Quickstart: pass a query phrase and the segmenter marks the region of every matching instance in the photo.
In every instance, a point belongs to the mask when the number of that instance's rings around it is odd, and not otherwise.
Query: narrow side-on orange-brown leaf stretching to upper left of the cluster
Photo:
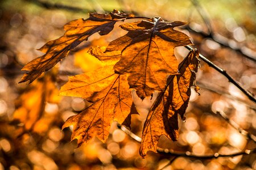
[[[90,17],[86,20],[77,19],[64,25],[66,31],[64,36],[59,39],[47,42],[39,50],[46,53],[41,57],[33,59],[27,63],[22,70],[29,71],[24,74],[22,80],[19,83],[30,81],[32,83],[43,72],[51,69],[61,59],[67,56],[69,51],[79,45],[82,41],[88,40],[88,38],[94,33],[107,35],[114,28],[114,24],[118,21],[122,21],[133,15],[127,15],[125,13],[114,10],[110,14],[90,14]]]

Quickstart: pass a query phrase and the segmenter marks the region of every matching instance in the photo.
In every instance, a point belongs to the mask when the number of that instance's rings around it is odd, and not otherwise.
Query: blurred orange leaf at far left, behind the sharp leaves
[[[27,88],[17,100],[18,108],[14,112],[13,122],[22,123],[24,132],[43,133],[54,120],[52,114],[46,112],[46,104],[59,103],[59,91],[51,75],[44,76]]]

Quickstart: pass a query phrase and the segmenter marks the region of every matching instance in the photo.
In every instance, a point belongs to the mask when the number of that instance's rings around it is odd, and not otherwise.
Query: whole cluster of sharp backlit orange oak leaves
[[[129,22],[137,18],[137,22]],[[130,126],[135,110],[131,89],[143,100],[157,91],[158,97],[148,112],[143,128],[141,156],[155,151],[161,135],[176,141],[178,114],[184,120],[191,88],[195,85],[199,52],[192,50],[179,64],[174,55],[176,46],[192,44],[189,37],[174,28],[183,22],[166,22],[160,17],[139,18],[114,10],[110,14],[90,14],[88,19],[73,20],[64,25],[65,33],[59,39],[47,42],[41,50],[46,53],[27,63],[20,82],[35,79],[51,69],[70,50],[87,41],[95,33],[107,35],[115,23],[126,35],[106,47],[92,47],[89,53],[104,62],[100,69],[70,76],[60,89],[60,95],[82,97],[90,105],[81,113],[69,117],[63,128],[73,126],[72,140],[78,146],[93,137],[105,142],[113,121]]]

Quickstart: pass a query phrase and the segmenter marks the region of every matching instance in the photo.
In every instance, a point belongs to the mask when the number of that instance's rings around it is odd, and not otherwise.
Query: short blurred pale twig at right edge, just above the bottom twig
[[[226,122],[228,122],[229,125],[231,125],[234,129],[236,129],[237,131],[239,131],[242,135],[245,135],[248,139],[250,139],[250,140],[256,142],[256,136],[255,136],[255,135],[253,135],[253,134],[249,133],[248,131],[243,130],[242,128],[240,128],[240,126],[237,125],[237,123],[234,122],[233,120],[230,120],[230,119],[228,118],[228,116],[227,116],[224,112],[222,112],[222,111],[221,111],[221,112],[220,112],[220,111],[217,111],[216,113],[217,113],[218,115],[220,115],[222,118],[224,118],[224,120],[225,120]]]

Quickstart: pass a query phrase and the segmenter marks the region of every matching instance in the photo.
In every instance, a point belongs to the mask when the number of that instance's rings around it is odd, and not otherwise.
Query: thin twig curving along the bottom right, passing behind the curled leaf
[[[131,138],[133,138],[135,141],[141,143],[142,139],[132,133],[130,130],[125,128],[125,126],[121,124],[117,124],[117,127],[124,131],[127,135],[129,135]],[[168,148],[160,148],[158,147],[156,150],[159,154],[163,155],[171,155],[171,156],[183,156],[187,158],[195,158],[195,159],[213,159],[213,158],[221,158],[221,157],[233,157],[233,156],[238,156],[238,155],[249,155],[249,154],[255,154],[256,153],[256,148],[253,148],[251,150],[245,150],[241,152],[236,152],[234,154],[218,154],[217,152],[213,155],[193,155],[191,152],[176,152],[173,150],[169,150]]]

